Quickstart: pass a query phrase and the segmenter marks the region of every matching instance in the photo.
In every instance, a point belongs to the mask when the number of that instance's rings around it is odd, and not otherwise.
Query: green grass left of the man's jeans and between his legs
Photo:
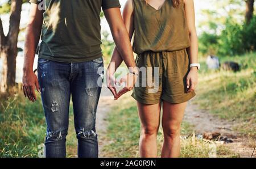
[[[22,94],[0,100],[0,157],[40,157],[46,136],[40,96],[35,103],[28,102]],[[67,136],[67,157],[76,157],[76,135],[72,106]]]

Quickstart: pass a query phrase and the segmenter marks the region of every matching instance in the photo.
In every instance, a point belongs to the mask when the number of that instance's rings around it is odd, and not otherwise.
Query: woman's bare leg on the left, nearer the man
[[[160,125],[161,104],[142,104],[137,102],[141,119],[139,154],[141,157],[157,157],[156,136]]]

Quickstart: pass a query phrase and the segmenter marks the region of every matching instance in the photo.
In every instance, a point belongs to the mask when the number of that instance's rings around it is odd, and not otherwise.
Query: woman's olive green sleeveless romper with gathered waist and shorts
[[[133,9],[133,50],[140,68],[133,98],[144,104],[187,102],[195,92],[187,93],[190,40],[184,3],[175,8],[166,0],[156,10],[144,0],[133,0]]]

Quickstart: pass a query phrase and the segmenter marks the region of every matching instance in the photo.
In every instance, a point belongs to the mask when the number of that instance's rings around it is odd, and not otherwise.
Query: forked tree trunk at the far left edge
[[[23,1],[11,0],[10,3],[10,26],[5,36],[2,20],[0,18],[0,58],[2,58],[2,79],[0,92],[13,92],[15,86],[16,56],[18,53],[17,43],[19,35],[20,13]]]

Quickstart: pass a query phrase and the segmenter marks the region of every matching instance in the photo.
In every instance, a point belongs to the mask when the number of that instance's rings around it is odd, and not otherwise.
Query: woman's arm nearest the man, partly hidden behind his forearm
[[[131,40],[134,33],[134,16],[132,0],[128,0],[125,4],[125,7],[123,9],[123,22],[125,23],[125,27],[129,33],[129,37]],[[107,84],[110,91],[112,91],[112,93],[114,94],[114,96],[117,93],[115,91],[114,84],[111,84],[111,78],[113,78],[113,74],[115,73],[117,68],[122,64],[122,61],[123,59],[121,57],[121,54],[119,53],[117,47],[115,47],[107,70]]]

